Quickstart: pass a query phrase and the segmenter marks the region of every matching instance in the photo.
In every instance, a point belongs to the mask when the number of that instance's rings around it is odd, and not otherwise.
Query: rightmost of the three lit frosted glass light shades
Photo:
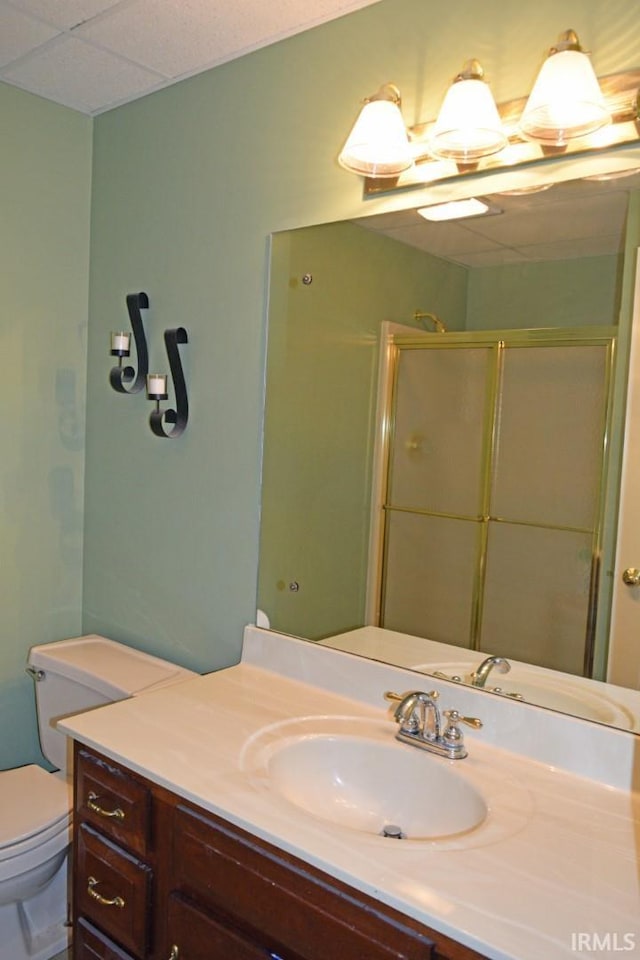
[[[528,140],[564,146],[611,122],[598,78],[586,53],[560,50],[542,65],[520,119]]]

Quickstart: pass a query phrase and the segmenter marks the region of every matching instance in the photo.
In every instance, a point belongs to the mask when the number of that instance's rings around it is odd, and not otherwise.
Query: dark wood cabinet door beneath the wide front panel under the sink
[[[185,960],[272,960],[266,947],[245,939],[175,894],[169,898],[168,932],[177,956]]]

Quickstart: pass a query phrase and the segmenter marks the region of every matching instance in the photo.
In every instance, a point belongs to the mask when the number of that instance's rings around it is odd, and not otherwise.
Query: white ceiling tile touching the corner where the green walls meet
[[[39,56],[8,67],[2,77],[31,93],[88,113],[141,96],[162,82],[157,74],[69,36],[54,41]]]

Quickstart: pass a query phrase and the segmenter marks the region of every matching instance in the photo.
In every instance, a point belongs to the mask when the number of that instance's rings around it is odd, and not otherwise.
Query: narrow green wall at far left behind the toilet
[[[82,612],[92,123],[0,85],[0,767],[37,759],[29,647]]]

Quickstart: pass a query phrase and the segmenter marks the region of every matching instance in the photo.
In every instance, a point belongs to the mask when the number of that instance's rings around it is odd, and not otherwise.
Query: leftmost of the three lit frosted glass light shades
[[[398,104],[393,100],[366,103],[338,162],[365,177],[397,177],[412,167],[409,137]]]

